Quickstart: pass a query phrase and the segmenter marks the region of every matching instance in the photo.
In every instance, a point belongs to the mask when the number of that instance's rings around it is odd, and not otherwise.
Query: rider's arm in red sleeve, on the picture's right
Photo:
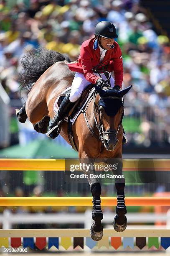
[[[123,82],[123,60],[122,60],[122,51],[120,46],[117,44],[114,47],[114,56],[111,63],[109,64],[108,71],[114,72],[114,84],[119,85],[122,88]]]

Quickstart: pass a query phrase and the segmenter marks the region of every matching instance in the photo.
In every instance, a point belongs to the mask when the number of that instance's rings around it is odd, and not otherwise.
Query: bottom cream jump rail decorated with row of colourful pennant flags
[[[53,250],[107,248],[109,250],[147,249],[155,246],[166,250],[170,246],[170,229],[126,229],[117,233],[114,229],[104,229],[101,241],[93,241],[89,229],[7,229],[0,230],[0,246],[6,248],[44,248]]]

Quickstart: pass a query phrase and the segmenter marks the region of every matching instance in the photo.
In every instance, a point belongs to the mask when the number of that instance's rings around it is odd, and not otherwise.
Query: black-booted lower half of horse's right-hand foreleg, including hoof
[[[117,207],[116,207],[116,216],[114,217],[113,227],[117,232],[123,232],[127,227],[127,214],[126,205],[124,202],[124,183],[117,183],[115,179],[115,187],[117,189]]]

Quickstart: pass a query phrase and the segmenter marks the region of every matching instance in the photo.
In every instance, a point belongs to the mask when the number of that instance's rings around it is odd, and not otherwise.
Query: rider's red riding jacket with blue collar
[[[103,61],[100,61],[100,49],[96,38],[86,40],[81,45],[79,59],[68,63],[67,65],[71,71],[84,74],[87,81],[91,82],[92,84],[96,84],[99,76],[94,75],[92,69],[100,63],[101,66],[98,68],[101,69],[102,66],[107,66],[108,72],[114,72],[115,85],[122,87],[122,52],[119,45],[115,41],[111,46],[111,49],[107,50]]]

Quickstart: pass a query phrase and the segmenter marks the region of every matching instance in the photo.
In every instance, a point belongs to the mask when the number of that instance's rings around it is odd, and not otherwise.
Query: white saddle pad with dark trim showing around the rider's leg
[[[63,90],[63,92],[61,92],[60,94],[66,95],[66,93],[69,92],[69,90],[71,90],[71,86],[68,87],[68,88],[66,88],[65,90]],[[94,91],[95,91],[95,88],[93,87],[93,88],[91,89],[91,91],[89,92],[89,96],[87,97],[87,99],[86,99],[86,101],[84,102],[84,104],[83,104],[83,106],[81,107],[81,109],[84,109],[84,108],[85,108],[86,103],[88,102],[89,98],[93,95]],[[57,113],[57,112],[58,112],[58,109],[59,109],[59,105],[60,105],[60,104],[58,104],[58,101],[59,101],[60,97],[63,97],[63,96],[58,96],[58,97],[56,98],[55,102],[54,102],[54,105],[53,105],[53,110],[54,110],[55,113]],[[74,122],[76,121],[76,119],[78,118],[78,116],[79,116],[80,113],[81,113],[81,110],[77,109],[77,111],[76,111],[76,113],[74,114],[73,118],[70,119],[70,121],[71,121],[72,124],[74,124]],[[67,122],[67,121],[68,121],[68,117],[66,117],[66,118],[64,119],[64,121]]]

